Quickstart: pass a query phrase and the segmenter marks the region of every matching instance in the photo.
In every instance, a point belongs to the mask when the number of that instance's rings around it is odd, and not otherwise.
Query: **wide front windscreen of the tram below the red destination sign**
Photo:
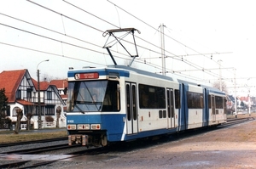
[[[119,111],[119,82],[68,82],[68,112]]]

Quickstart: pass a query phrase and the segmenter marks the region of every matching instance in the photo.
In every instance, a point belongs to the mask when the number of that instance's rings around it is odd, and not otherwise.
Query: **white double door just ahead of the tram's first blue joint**
[[[168,109],[168,128],[175,127],[175,118],[174,118],[174,105],[173,105],[173,89],[167,88],[167,109]]]

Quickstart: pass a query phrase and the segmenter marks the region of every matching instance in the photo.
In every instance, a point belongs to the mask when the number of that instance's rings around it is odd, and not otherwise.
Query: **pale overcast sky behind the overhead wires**
[[[165,25],[166,76],[173,71],[199,82],[219,73],[234,92],[255,93],[254,1],[234,0],[26,0],[0,6],[0,71],[28,69],[37,78],[66,78],[69,67],[113,65],[105,48],[109,29],[133,27],[139,57],[131,65],[160,73],[160,25]],[[37,3],[37,4],[35,4]],[[114,5],[115,4],[115,5]],[[127,37],[129,38],[129,37]],[[133,50],[129,46],[129,50]],[[120,46],[119,65],[129,64]],[[134,51],[133,51],[134,52]],[[119,59],[119,57],[123,59]],[[41,61],[49,59],[49,62]],[[221,61],[220,61],[221,60]],[[144,63],[145,64],[140,64]],[[221,63],[221,70],[219,70]],[[244,86],[248,87],[244,87]]]

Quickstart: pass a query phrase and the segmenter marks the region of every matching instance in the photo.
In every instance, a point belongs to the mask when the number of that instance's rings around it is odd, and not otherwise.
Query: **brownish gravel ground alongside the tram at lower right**
[[[252,116],[256,117],[255,114]],[[11,149],[20,149],[14,147]],[[1,148],[0,151],[8,150],[10,148]],[[51,154],[61,155],[67,151]],[[6,161],[0,161],[0,164],[3,162]],[[57,161],[38,168],[256,168],[256,121],[148,148],[84,155],[72,161]]]

